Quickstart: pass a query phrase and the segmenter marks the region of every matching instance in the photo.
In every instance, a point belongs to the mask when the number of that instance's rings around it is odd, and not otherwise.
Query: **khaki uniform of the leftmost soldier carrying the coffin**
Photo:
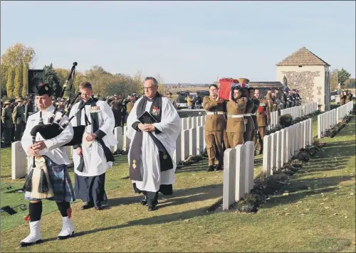
[[[206,109],[204,124],[204,136],[206,142],[206,151],[208,153],[209,166],[214,164],[222,165],[224,163],[223,139],[226,129],[226,104],[224,99],[219,103],[213,97],[204,97],[203,107]],[[214,112],[215,114],[210,114]],[[219,114],[217,114],[219,112]]]

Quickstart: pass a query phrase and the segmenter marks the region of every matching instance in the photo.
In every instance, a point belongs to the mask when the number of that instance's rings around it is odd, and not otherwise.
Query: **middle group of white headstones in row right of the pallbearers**
[[[273,168],[281,169],[300,149],[312,143],[312,124],[313,119],[306,119],[263,137],[262,168],[267,177],[273,174]]]

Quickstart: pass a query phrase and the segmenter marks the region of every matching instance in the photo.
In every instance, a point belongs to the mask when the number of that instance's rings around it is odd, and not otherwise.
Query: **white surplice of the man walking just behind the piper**
[[[70,109],[69,116],[71,117],[73,114],[78,112],[79,102],[73,105],[72,109]],[[115,118],[109,104],[105,101],[96,102],[96,106],[99,107],[98,110],[92,110],[91,105],[85,105],[85,113],[84,109],[81,112],[80,125],[85,125],[85,114],[88,117],[88,126],[85,126],[85,131],[89,134],[93,134],[93,124],[91,124],[91,113],[98,113],[99,119],[99,129],[103,131],[106,135],[103,137],[103,141],[105,146],[108,146],[110,149],[111,146],[117,144],[117,140],[112,133],[115,127]],[[71,120],[72,126],[78,126],[77,118],[74,117]],[[112,167],[112,162],[107,162],[105,158],[105,154],[103,151],[103,147],[98,143],[98,141],[94,141],[89,147],[82,146],[83,151],[83,159],[84,159],[84,169],[83,172],[77,170],[78,165],[80,163],[80,156],[78,156],[77,151],[73,149],[73,163],[74,163],[74,172],[78,176],[100,176],[105,173],[108,168]]]

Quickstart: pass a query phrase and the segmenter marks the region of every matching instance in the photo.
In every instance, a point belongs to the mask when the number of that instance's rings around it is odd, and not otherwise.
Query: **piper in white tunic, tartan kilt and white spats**
[[[73,138],[73,127],[68,124],[58,136],[44,139],[33,129],[36,126],[48,124],[55,110],[52,104],[52,90],[49,85],[41,83],[34,88],[36,104],[39,112],[28,117],[25,131],[21,139],[23,150],[28,156],[28,177],[24,185],[25,198],[30,200],[28,205],[30,220],[30,235],[20,243],[21,247],[42,242],[40,222],[42,199],[54,200],[61,212],[63,227],[57,239],[67,239],[74,233],[71,218],[70,203],[75,200],[74,190],[68,174],[69,158],[63,146]],[[61,117],[56,112],[56,117]],[[66,122],[64,116],[61,122]],[[35,143],[36,141],[36,143]]]

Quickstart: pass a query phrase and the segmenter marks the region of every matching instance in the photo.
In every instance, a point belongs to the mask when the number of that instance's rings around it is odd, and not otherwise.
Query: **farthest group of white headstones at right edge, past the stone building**
[[[318,138],[325,136],[325,131],[331,129],[339,120],[350,114],[353,108],[353,102],[350,101],[336,109],[332,109],[329,112],[324,112],[318,115]]]

